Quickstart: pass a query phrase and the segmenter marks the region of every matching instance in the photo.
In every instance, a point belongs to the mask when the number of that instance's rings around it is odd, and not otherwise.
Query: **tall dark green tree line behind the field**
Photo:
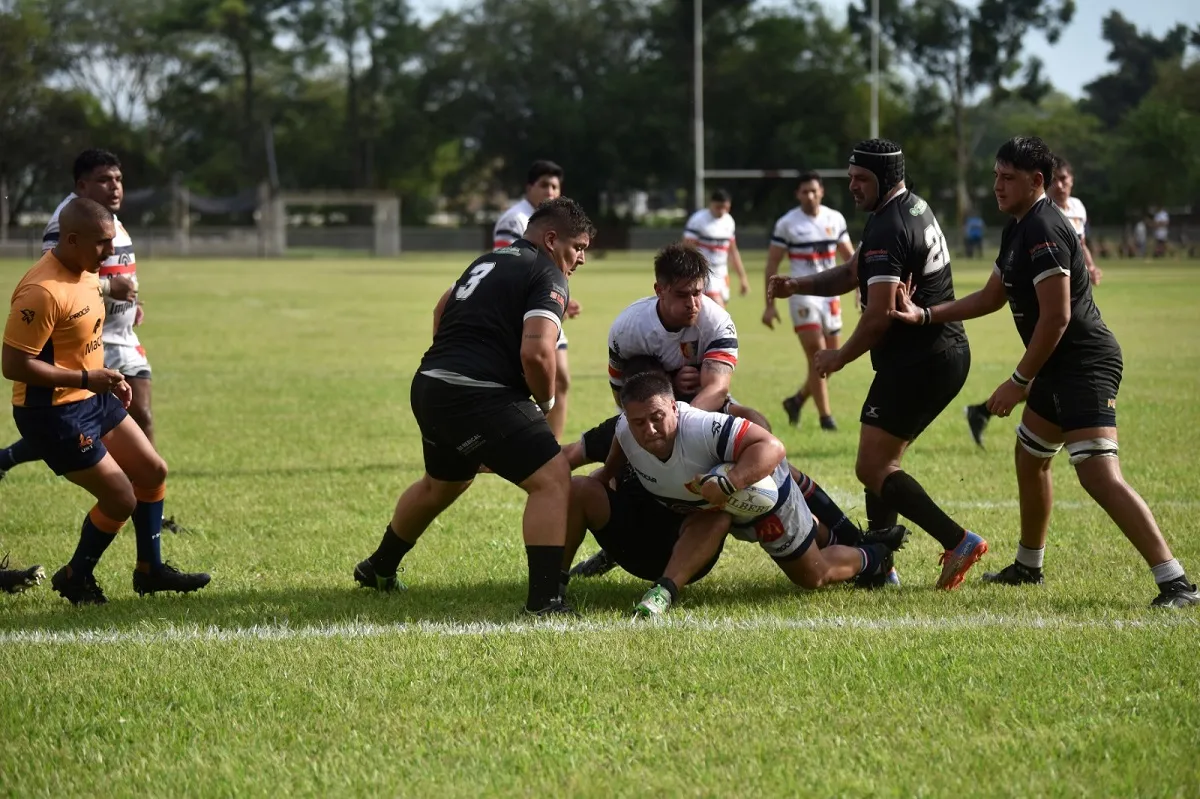
[[[845,163],[868,136],[870,0],[856,2],[841,23],[815,0],[704,0],[709,166]],[[1074,101],[1024,50],[1073,14],[1073,0],[881,0],[881,132],[943,214],[995,218],[991,155],[1016,133],[1073,161],[1100,221],[1198,199],[1200,26],[1156,37],[1112,12],[1111,70]],[[406,0],[0,0],[0,178],[16,218],[104,146],[131,188],[389,190],[421,223],[516,193],[550,157],[589,209],[630,190],[690,203],[691,48],[691,0],[476,0],[433,19]],[[725,187],[745,222],[791,203],[786,181]]]

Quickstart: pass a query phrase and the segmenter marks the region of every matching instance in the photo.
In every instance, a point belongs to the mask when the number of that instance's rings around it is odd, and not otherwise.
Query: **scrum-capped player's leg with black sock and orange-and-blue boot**
[[[988,552],[988,542],[950,518],[919,482],[900,468],[908,443],[880,427],[863,425],[854,470],[869,492],[916,522],[942,545],[937,588],[958,588],[966,572]]]

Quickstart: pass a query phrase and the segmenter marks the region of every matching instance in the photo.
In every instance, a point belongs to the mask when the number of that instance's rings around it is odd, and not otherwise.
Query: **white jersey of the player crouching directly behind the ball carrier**
[[[707,296],[700,298],[700,316],[691,328],[667,330],[659,318],[659,299],[637,300],[620,312],[608,331],[608,383],[625,383],[625,360],[635,355],[659,359],[671,373],[706,360],[738,365],[738,329],[733,317]]]

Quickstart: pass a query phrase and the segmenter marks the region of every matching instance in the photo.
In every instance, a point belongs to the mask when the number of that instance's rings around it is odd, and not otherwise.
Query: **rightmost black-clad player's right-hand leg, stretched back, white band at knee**
[[[1150,566],[1158,596],[1154,607],[1200,605],[1200,591],[1188,579],[1183,566],[1171,554],[1145,500],[1124,481],[1117,459],[1115,427],[1072,431],[1067,434],[1067,452],[1084,489],[1109,515]]]

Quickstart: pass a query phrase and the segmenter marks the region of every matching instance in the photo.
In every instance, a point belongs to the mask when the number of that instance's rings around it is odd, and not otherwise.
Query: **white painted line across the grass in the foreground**
[[[160,630],[10,630],[0,632],[0,645],[5,644],[154,644],[176,642],[230,642],[230,641],[302,641],[317,638],[379,638],[388,636],[517,636],[517,635],[586,635],[604,632],[629,632],[644,626],[679,632],[755,632],[755,631],[826,631],[826,630],[1165,630],[1175,627],[1200,629],[1200,617],[1195,614],[1171,614],[1160,618],[1140,619],[1072,619],[1066,617],[1019,617],[979,613],[971,615],[920,618],[863,618],[863,617],[748,617],[744,619],[695,618],[688,614],[672,615],[653,621],[630,620],[535,620],[527,621],[400,621],[376,624],[372,621],[346,621],[337,624],[290,626],[256,625],[251,627],[175,626]]]

